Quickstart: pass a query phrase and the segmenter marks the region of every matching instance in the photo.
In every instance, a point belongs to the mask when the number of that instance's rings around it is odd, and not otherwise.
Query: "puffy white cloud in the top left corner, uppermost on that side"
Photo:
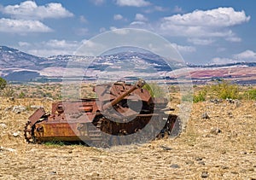
[[[12,18],[24,20],[57,19],[73,16],[71,12],[62,7],[61,3],[47,3],[44,6],[38,6],[34,1],[9,5],[3,7],[1,11],[5,15],[11,15]]]

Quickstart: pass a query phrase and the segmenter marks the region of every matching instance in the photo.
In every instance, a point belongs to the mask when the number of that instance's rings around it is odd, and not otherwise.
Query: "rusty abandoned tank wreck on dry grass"
[[[38,108],[26,125],[26,142],[85,142],[90,146],[130,144],[177,136],[181,122],[166,98],[155,98],[135,84],[116,82],[94,87],[97,98],[53,102],[50,113]]]

